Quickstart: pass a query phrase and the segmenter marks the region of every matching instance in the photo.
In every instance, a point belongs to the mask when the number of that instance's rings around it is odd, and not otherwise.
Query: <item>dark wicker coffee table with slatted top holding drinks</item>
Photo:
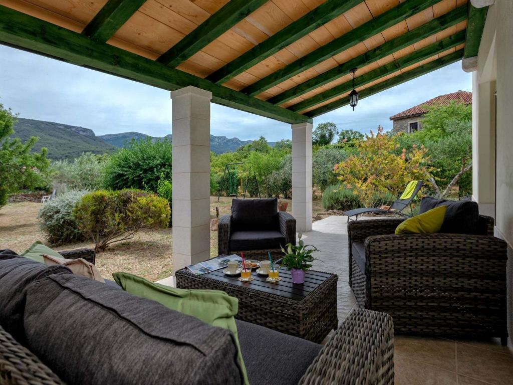
[[[282,280],[276,283],[267,282],[254,271],[252,276],[253,281],[241,282],[222,270],[200,276],[186,268],[175,273],[176,287],[222,290],[238,298],[235,318],[240,320],[313,342],[321,342],[337,329],[336,274],[309,270],[304,284],[292,283],[290,272],[284,268],[280,269]]]

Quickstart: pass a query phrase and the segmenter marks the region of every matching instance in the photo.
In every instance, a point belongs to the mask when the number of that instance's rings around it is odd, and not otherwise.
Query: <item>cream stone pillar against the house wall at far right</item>
[[[479,213],[495,218],[495,89],[472,74],[472,200]]]

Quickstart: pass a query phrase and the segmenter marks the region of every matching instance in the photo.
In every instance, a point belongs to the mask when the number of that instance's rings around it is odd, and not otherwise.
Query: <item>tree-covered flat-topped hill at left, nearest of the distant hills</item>
[[[41,120],[17,118],[14,125],[14,136],[27,140],[39,137],[34,150],[48,148],[49,159],[72,159],[82,152],[112,152],[116,148],[103,139],[95,136],[89,128],[69,126],[67,124],[44,122]]]

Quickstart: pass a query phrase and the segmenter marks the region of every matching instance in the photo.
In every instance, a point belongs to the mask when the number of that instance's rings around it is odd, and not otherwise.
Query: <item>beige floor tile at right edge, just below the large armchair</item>
[[[513,357],[457,343],[458,373],[494,384],[513,384]]]

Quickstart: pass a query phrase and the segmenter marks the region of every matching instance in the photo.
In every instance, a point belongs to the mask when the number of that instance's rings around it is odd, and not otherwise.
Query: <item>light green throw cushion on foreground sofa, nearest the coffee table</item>
[[[201,319],[212,326],[228,329],[235,336],[239,363],[245,385],[249,385],[242,359],[234,315],[239,311],[239,300],[218,290],[189,290],[150,282],[128,273],[112,274],[114,280],[127,293],[159,302],[171,310]]]

